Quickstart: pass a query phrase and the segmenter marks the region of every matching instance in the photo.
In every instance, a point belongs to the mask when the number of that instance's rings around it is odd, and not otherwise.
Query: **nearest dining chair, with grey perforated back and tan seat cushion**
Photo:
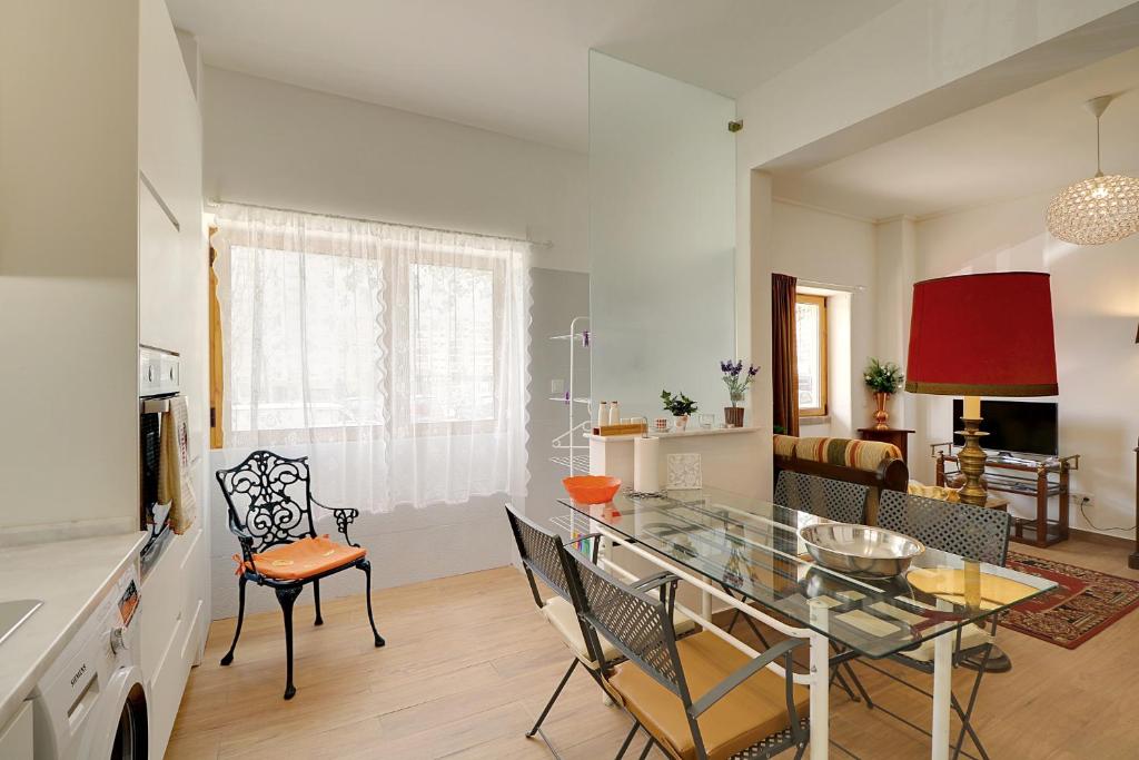
[[[604,657],[601,683],[633,718],[617,752],[624,757],[638,730],[670,758],[760,760],[795,749],[810,737],[810,692],[794,683],[789,638],[749,659],[711,631],[677,639],[669,620],[677,582],[659,573],[639,587],[622,583],[579,553],[565,553],[565,572],[580,618],[624,657]],[[652,593],[659,590],[658,594]],[[771,670],[781,661],[782,675]]]

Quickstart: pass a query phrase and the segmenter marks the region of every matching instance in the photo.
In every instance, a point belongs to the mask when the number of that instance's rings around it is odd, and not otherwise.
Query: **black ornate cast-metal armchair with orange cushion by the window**
[[[371,563],[364,549],[349,538],[349,525],[360,512],[327,507],[317,501],[312,496],[308,459],[288,459],[272,451],[254,451],[237,467],[214,473],[229,506],[229,530],[241,546],[241,554],[233,556],[240,563],[237,630],[221,664],[233,662],[233,649],[245,620],[246,583],[253,581],[273,589],[285,616],[285,654],[288,661],[286,700],[296,694],[293,686],[293,605],[306,583],[312,583],[317,606],[313,624],[321,626],[320,579],[349,567],[362,570],[368,622],[371,623],[376,646],[385,644],[376,630],[371,611]],[[345,544],[317,536],[312,505],[331,512]]]

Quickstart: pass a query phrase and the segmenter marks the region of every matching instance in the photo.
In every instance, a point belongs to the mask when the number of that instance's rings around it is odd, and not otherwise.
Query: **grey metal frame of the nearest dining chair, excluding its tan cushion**
[[[780,641],[761,656],[730,673],[700,698],[694,701],[685,679],[683,664],[677,649],[677,636],[672,628],[677,583],[680,579],[672,573],[661,572],[630,586],[618,581],[579,554],[563,551],[562,557],[565,562],[565,574],[574,606],[581,620],[589,624],[593,641],[598,640],[598,634],[605,636],[625,660],[636,664],[656,683],[677,695],[685,708],[685,716],[698,760],[707,760],[707,751],[700,735],[699,717],[730,694],[732,689],[780,659],[787,685],[788,727],[765,737],[762,742],[735,757],[760,760],[796,747],[796,760],[802,758],[810,737],[810,726],[806,719],[798,718],[795,709],[793,655],[796,647],[806,643],[805,639],[789,638]],[[656,589],[659,589],[659,597],[648,594],[648,591]],[[598,651],[600,652],[599,647]],[[598,662],[603,663],[603,672],[611,670],[612,663],[604,660],[598,660]],[[616,760],[624,757],[629,744],[640,728],[642,728],[640,721],[633,717],[633,726],[625,736]],[[649,741],[641,752],[642,759],[654,745],[661,745],[661,742],[648,732],[647,727],[645,728]]]

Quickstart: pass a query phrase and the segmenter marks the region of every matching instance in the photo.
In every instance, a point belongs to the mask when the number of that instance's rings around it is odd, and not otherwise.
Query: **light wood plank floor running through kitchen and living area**
[[[1049,550],[1015,548],[1139,579],[1117,546],[1073,539]],[[524,734],[570,655],[536,613],[522,574],[491,570],[377,591],[374,599],[388,640],[382,649],[371,646],[362,595],[326,602],[320,628],[311,626],[311,605],[297,605],[297,694],[290,702],[281,700],[280,615],[246,620],[229,668],[218,661],[235,621],[214,622],[167,757],[551,757]],[[999,640],[1014,669],[986,677],[975,718],[994,760],[1139,757],[1139,613],[1075,651],[1009,630]],[[855,668],[876,701],[928,726],[924,697]],[[958,678],[964,688],[968,672]],[[858,757],[928,757],[923,736],[849,702],[838,689],[831,706],[831,738]],[[596,684],[580,671],[546,724],[566,760],[613,757],[629,726],[617,709],[601,704]],[[638,754],[642,744],[634,744]],[[844,755],[833,749],[831,757]]]

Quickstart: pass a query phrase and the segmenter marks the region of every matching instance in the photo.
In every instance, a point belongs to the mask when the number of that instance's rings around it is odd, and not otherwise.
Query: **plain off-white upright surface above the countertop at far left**
[[[5,7],[0,545],[138,526],[138,0]]]

